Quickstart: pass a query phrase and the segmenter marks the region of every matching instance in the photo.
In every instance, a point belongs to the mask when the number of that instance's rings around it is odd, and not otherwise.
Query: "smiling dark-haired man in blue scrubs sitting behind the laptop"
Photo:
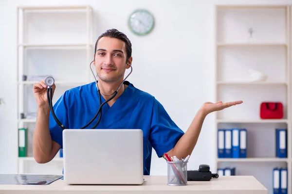
[[[131,52],[128,37],[115,29],[106,31],[97,39],[93,64],[102,102],[109,99],[123,82],[126,69],[132,64]],[[44,81],[39,81],[33,89],[38,106],[33,151],[38,163],[51,161],[63,145],[62,129],[50,113],[46,88]],[[164,153],[178,158],[191,155],[205,116],[240,103],[242,101],[204,103],[184,133],[155,97],[124,81],[117,95],[102,107],[101,120],[95,129],[142,129],[144,174],[149,175],[152,147],[159,157]],[[91,121],[98,108],[95,82],[66,91],[54,105],[55,114],[66,129],[81,129]],[[98,118],[86,129],[91,129]]]

